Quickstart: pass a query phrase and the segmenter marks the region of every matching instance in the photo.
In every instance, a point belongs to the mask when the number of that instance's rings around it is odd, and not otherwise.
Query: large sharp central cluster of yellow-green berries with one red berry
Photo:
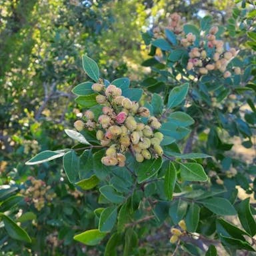
[[[103,105],[102,115],[95,118],[93,111],[87,110],[86,122],[77,120],[74,126],[77,131],[97,130],[97,139],[107,147],[105,157],[101,159],[104,165],[125,166],[124,153],[128,149],[138,162],[163,154],[160,146],[163,134],[155,131],[161,123],[150,115],[147,107],[140,107],[136,101],[124,97],[115,85],[106,88],[103,83],[94,83],[91,88],[99,93],[96,101]],[[147,124],[143,123],[145,120]]]

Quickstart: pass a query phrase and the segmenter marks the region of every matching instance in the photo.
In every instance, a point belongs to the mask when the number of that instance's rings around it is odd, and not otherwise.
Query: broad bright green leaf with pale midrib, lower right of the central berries
[[[179,163],[181,178],[185,181],[207,181],[208,177],[199,163]]]

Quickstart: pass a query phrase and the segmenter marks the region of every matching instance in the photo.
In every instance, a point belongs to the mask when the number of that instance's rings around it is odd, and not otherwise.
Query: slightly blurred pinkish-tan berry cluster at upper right
[[[201,75],[206,75],[208,71],[219,70],[223,73],[223,77],[231,76],[227,71],[229,61],[233,59],[238,53],[235,48],[224,50],[224,42],[217,40],[215,34],[218,32],[218,27],[213,26],[206,35],[205,41],[200,41],[200,47],[195,47],[196,37],[193,33],[188,33],[186,38],[181,39],[181,45],[189,47],[189,62],[187,63],[187,70],[195,71]],[[239,75],[241,69],[235,68],[235,73]]]

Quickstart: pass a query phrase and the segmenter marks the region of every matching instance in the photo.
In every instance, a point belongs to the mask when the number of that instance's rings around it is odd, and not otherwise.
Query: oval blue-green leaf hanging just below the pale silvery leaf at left
[[[79,176],[79,157],[75,151],[65,153],[63,157],[63,167],[70,183],[75,183]]]

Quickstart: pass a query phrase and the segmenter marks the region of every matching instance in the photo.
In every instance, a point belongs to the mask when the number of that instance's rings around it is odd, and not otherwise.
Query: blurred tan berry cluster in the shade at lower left
[[[28,180],[31,182],[31,185],[26,190],[21,189],[21,194],[25,195],[27,203],[33,203],[35,209],[40,211],[45,206],[45,201],[52,201],[56,194],[51,192],[51,187],[46,186],[45,182],[41,179],[28,177]]]

